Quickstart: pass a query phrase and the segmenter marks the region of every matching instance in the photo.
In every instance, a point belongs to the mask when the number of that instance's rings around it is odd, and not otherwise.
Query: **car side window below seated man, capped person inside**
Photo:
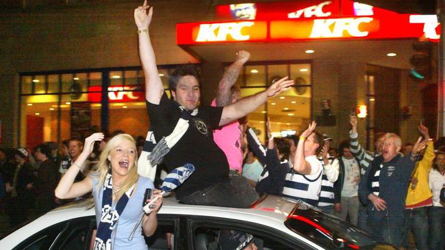
[[[194,250],[219,250],[218,234],[220,230],[236,230],[251,234],[253,242],[259,250],[309,249],[307,246],[298,247],[296,239],[264,225],[236,220],[218,220],[220,223],[214,219],[209,219],[209,221],[191,219],[189,221],[189,225],[192,227],[191,245]]]

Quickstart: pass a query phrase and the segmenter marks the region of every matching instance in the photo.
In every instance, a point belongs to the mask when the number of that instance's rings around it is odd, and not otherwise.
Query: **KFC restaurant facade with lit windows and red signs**
[[[136,1],[108,1],[1,12],[0,145],[34,148],[43,141],[123,130],[144,136],[149,117],[133,22]],[[346,0],[155,1],[151,39],[160,77],[178,64],[201,67],[201,104],[216,95],[225,67],[246,50],[237,85],[242,96],[284,76],[295,87],[247,117],[264,139],[299,133],[311,120],[348,138],[357,113],[361,141],[394,132],[414,142],[418,122],[435,126],[437,76],[413,76],[413,46],[437,47],[437,20]],[[420,76],[422,77],[422,76]],[[435,85],[436,83],[436,85]],[[433,110],[433,107],[435,109]]]

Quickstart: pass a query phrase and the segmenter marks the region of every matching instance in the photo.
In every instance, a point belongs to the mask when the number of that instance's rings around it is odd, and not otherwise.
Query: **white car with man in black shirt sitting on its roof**
[[[141,204],[142,206],[142,204]],[[149,249],[219,249],[221,229],[253,234],[258,249],[396,249],[303,202],[265,195],[252,208],[179,204],[164,199]],[[85,202],[56,208],[0,240],[0,249],[89,249],[96,228]],[[168,240],[167,240],[168,238]]]

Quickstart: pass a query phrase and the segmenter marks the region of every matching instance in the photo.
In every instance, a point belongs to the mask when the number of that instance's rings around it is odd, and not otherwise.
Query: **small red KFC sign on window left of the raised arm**
[[[101,102],[102,87],[91,86],[88,87],[88,102]],[[137,90],[136,86],[110,86],[108,87],[108,101],[109,102],[143,102],[145,101],[145,93],[142,90]]]

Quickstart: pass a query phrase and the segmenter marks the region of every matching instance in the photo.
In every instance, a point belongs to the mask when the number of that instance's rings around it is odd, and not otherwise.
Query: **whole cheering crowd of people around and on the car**
[[[434,143],[420,124],[416,143],[403,147],[398,135],[378,133],[375,151],[368,152],[358,141],[357,117],[352,114],[350,124],[344,124],[351,126],[349,138],[338,148],[331,147],[333,139],[316,130],[315,122],[299,135],[280,138],[272,137],[267,122],[263,145],[245,117],[294,81],[275,79],[266,90],[241,98],[235,83],[250,54],[239,51],[211,106],[199,105],[201,81],[191,65],[179,66],[170,75],[170,99],[151,46],[152,16],[147,1],[134,11],[147,113],[157,141],[152,154],[163,151],[166,171],[187,164],[196,169],[175,191],[176,199],[249,208],[260,195],[279,195],[348,220],[381,242],[407,247],[412,232],[417,249],[444,249],[445,140]],[[177,139],[167,144],[170,137]],[[143,141],[117,131],[107,138],[94,133],[85,140],[63,141],[60,153],[57,143],[43,143],[32,152],[18,148],[11,159],[0,151],[1,205],[11,225],[24,221],[31,206],[43,213],[90,196],[97,216],[94,249],[146,249],[142,233],[155,232],[162,196],[155,191],[153,197],[159,199],[144,213],[142,202],[151,200],[143,201],[144,191],[155,189],[155,184],[137,172]],[[168,146],[158,147],[163,143]],[[127,240],[131,232],[136,232],[134,240]],[[221,249],[256,249],[245,232],[221,230],[218,238]]]

